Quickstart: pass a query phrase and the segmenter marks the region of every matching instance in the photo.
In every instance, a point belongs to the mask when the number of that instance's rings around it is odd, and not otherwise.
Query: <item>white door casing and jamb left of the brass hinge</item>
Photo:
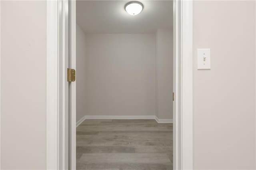
[[[68,0],[47,1],[46,168],[68,169]]]

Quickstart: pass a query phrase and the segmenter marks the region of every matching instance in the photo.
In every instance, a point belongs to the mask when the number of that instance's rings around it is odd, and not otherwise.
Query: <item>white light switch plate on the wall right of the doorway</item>
[[[197,49],[197,69],[211,69],[210,49]]]

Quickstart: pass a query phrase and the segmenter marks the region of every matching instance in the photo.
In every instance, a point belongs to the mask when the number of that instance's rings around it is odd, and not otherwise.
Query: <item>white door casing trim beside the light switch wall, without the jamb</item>
[[[181,169],[193,169],[193,1],[181,0],[180,137]]]

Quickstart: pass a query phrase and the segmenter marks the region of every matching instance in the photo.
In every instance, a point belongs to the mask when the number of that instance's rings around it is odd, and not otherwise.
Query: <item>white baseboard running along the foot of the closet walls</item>
[[[85,119],[155,119],[157,123],[173,123],[172,119],[158,119],[156,116],[84,116],[76,122],[78,127]]]

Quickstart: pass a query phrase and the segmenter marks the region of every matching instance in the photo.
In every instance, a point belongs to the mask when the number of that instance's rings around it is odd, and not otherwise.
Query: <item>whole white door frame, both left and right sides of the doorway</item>
[[[173,0],[174,8],[174,170],[193,169],[193,39],[192,0]],[[61,8],[61,6],[64,8]],[[67,22],[60,24],[60,21]],[[69,27],[69,35],[63,33]],[[76,169],[76,84],[66,87],[67,67],[63,65],[68,49],[69,67],[76,68],[76,0],[47,1],[47,94],[46,94],[46,168]],[[60,51],[65,53],[60,53]],[[66,90],[63,90],[66,89]],[[73,92],[73,93],[72,93]],[[63,99],[69,95],[69,102]],[[63,110],[68,105],[68,111]],[[66,107],[65,107],[66,108]],[[62,115],[69,112],[68,126]],[[64,135],[64,136],[63,136]],[[68,142],[68,146],[67,146]],[[68,150],[68,152],[66,152]]]

